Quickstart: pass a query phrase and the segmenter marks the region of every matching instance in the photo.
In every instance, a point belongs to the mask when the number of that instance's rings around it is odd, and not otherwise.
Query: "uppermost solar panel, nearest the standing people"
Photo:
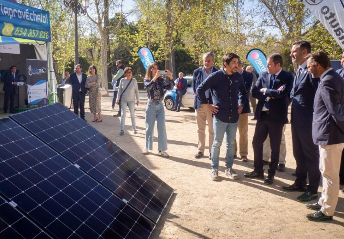
[[[155,223],[173,189],[60,103],[11,116]]]

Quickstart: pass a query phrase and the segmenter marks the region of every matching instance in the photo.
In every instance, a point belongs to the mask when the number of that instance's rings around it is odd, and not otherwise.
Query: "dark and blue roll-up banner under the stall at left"
[[[26,59],[26,67],[29,107],[46,105],[48,103],[47,61]]]

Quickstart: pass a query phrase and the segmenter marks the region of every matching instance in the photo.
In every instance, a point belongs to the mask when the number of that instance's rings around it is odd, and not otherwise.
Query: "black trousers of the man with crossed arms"
[[[282,130],[284,123],[269,120],[269,115],[262,111],[260,120],[257,121],[255,134],[252,140],[254,151],[254,171],[263,172],[263,143],[266,138],[270,137],[271,160],[269,163],[269,176],[274,176],[278,167],[279,152],[282,139]]]

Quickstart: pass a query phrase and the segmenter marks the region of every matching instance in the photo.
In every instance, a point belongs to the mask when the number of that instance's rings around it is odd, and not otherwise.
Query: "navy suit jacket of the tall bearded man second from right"
[[[307,67],[301,70],[298,79],[294,79],[290,92],[292,99],[291,123],[297,127],[312,127],[315,92],[320,79],[312,78]]]

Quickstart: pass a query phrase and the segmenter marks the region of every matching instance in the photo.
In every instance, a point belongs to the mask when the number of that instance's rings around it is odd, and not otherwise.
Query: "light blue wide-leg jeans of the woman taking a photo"
[[[162,102],[147,102],[146,109],[146,148],[153,150],[153,133],[155,119],[158,127],[158,150],[167,150],[167,136],[165,126],[165,110]]]

